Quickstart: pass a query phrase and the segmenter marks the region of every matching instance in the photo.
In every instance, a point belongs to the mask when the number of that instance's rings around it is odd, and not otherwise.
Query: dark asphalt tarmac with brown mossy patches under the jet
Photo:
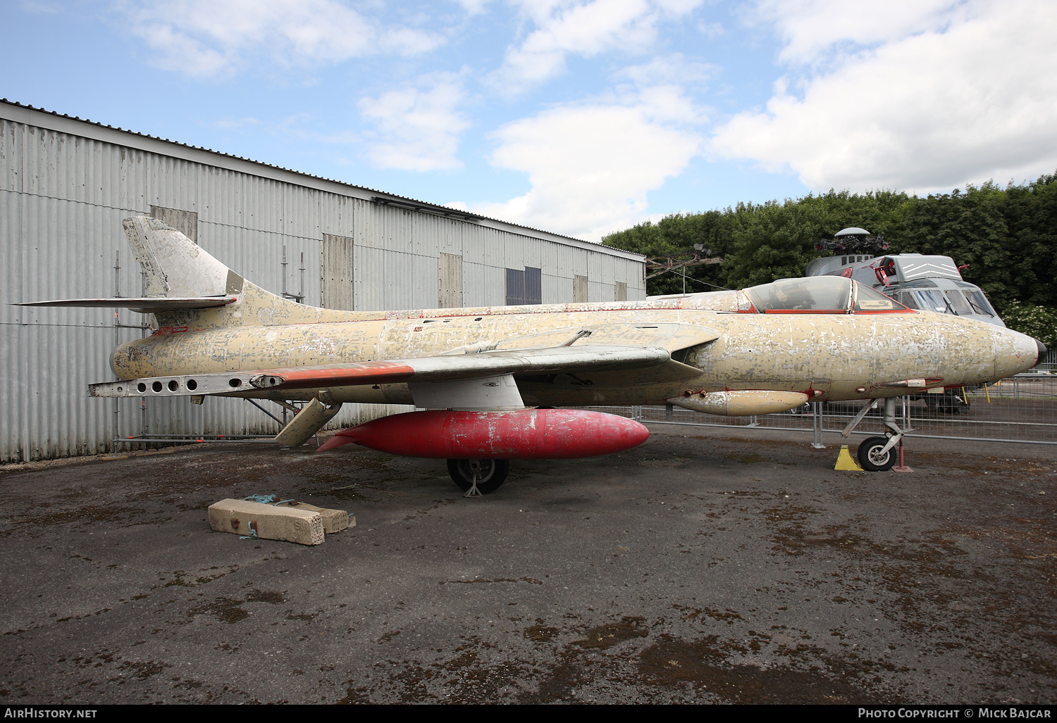
[[[854,473],[835,436],[651,430],[479,499],[352,445],[0,468],[0,703],[1057,702],[1057,449]],[[251,494],[358,526],[210,531]]]

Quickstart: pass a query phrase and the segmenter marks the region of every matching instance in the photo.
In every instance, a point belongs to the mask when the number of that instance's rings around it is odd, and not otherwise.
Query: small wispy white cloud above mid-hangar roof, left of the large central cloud
[[[461,168],[459,134],[469,128],[458,110],[465,96],[461,77],[434,73],[419,85],[359,101],[364,118],[377,128],[367,136],[368,157],[379,168],[407,171]]]

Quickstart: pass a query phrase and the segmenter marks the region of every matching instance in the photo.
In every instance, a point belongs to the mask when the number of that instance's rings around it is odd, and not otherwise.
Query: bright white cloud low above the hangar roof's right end
[[[684,122],[696,111],[672,93],[562,106],[504,126],[493,134],[492,161],[527,173],[532,189],[472,210],[589,241],[641,221],[647,192],[681,173],[701,145]]]

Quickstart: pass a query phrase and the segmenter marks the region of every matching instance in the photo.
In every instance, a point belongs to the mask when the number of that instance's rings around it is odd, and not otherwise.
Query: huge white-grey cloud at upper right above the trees
[[[832,11],[821,40],[795,17],[809,5],[817,11],[809,18]],[[780,80],[765,111],[717,129],[712,151],[792,169],[813,190],[928,192],[1053,172],[1057,5],[980,0],[940,13],[948,5],[883,22],[873,5],[855,14],[829,2],[764,3],[779,14],[783,56],[821,58],[827,70]],[[875,46],[849,52],[852,39]]]

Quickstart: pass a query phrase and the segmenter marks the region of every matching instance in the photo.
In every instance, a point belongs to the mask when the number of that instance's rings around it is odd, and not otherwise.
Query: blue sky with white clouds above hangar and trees
[[[0,97],[598,241],[1057,171],[1052,0],[0,0]]]

